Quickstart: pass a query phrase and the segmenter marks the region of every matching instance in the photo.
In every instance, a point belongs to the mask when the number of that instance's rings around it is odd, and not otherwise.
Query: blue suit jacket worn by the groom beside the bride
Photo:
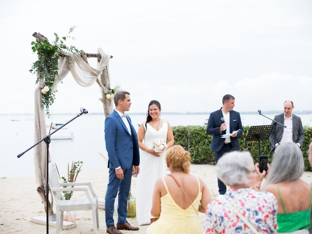
[[[108,153],[108,168],[131,168],[140,164],[140,156],[137,142],[137,132],[134,129],[129,116],[126,117],[132,134],[127,130],[121,117],[114,110],[105,118],[105,144]]]

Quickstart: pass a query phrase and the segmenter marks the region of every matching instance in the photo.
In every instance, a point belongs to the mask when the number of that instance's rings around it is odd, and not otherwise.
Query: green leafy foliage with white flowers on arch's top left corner
[[[54,33],[55,41],[50,43],[48,40],[32,41],[32,51],[37,52],[38,60],[35,61],[29,70],[35,74],[38,72],[36,84],[39,80],[43,80],[43,86],[41,87],[41,106],[45,108],[46,115],[50,117],[49,107],[55,100],[55,93],[57,92],[57,86],[55,84],[55,78],[59,77],[58,65],[60,58],[67,58],[67,61],[71,63],[71,54],[80,55],[80,51],[75,46],[67,46],[65,44],[66,39],[74,39],[70,34],[74,31],[75,26],[69,29],[66,37],[59,38],[58,34]]]

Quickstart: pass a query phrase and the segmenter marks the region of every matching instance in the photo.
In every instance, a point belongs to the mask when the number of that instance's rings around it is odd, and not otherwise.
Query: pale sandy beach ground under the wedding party
[[[218,196],[215,166],[191,165],[191,174],[198,176],[207,184],[213,198]],[[136,179],[132,178],[132,194],[136,196]],[[302,179],[312,182],[312,172],[305,172]],[[108,169],[82,170],[78,175],[77,182],[90,181],[99,199],[104,200],[106,184],[108,182]],[[45,225],[34,224],[32,217],[44,216],[44,207],[36,191],[35,179],[28,178],[2,178],[0,179],[0,233],[1,234],[43,234],[46,233]],[[74,194],[81,196],[81,194]],[[74,198],[73,197],[73,198]],[[93,234],[91,211],[77,211],[77,227],[71,230],[63,230],[61,234]],[[204,220],[204,214],[200,214]],[[117,216],[114,217],[115,222]],[[136,218],[128,218],[131,225],[137,226]],[[136,232],[123,231],[125,234],[146,233],[147,225],[140,226]],[[49,228],[49,233],[55,233],[56,229]],[[106,233],[105,213],[99,210],[99,234]]]

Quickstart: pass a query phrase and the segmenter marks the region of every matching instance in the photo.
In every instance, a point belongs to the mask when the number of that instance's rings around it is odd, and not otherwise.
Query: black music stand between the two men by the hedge
[[[248,134],[246,136],[245,141],[258,141],[258,151],[259,151],[259,156],[261,155],[260,152],[260,141],[261,140],[268,140],[271,132],[273,130],[274,125],[259,125],[259,126],[251,126]]]

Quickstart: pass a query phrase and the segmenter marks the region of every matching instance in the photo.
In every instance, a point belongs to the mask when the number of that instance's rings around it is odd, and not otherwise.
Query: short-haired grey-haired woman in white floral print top
[[[273,194],[259,192],[266,172],[258,167],[249,152],[234,151],[218,160],[217,176],[230,190],[208,204],[205,234],[275,233],[277,201]]]

